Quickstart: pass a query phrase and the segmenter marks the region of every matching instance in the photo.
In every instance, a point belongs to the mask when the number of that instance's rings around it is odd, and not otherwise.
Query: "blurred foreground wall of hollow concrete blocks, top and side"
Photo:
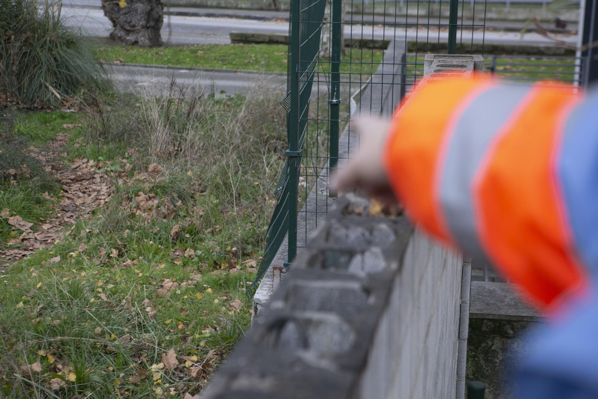
[[[203,396],[453,398],[463,261],[340,198]]]

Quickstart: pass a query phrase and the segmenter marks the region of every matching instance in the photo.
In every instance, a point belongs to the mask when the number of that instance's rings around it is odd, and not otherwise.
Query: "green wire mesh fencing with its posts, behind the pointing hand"
[[[426,53],[481,53],[485,41],[486,0],[291,0],[290,6],[281,103],[287,161],[250,291],[272,262],[292,261],[335,201],[329,176],[359,146],[351,120],[390,117],[423,73],[418,60]],[[286,250],[276,255],[280,246]]]

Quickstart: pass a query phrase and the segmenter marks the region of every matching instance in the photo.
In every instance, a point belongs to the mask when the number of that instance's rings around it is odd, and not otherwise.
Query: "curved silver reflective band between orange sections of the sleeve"
[[[453,238],[480,261],[487,259],[477,238],[473,179],[495,134],[520,107],[529,89],[502,85],[481,92],[459,117],[447,147],[440,176],[440,204]]]

